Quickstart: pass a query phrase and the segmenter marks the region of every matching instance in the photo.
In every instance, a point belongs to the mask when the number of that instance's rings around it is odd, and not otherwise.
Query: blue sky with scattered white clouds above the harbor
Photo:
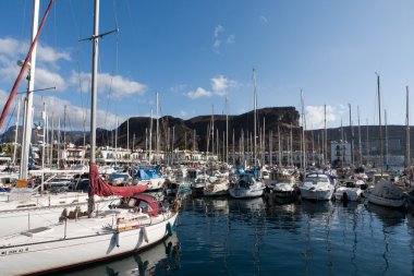
[[[40,0],[40,17],[47,4]],[[100,9],[100,33],[120,32],[99,43],[98,127],[156,112],[156,92],[161,116],[210,115],[212,105],[224,113],[226,97],[229,113],[249,111],[253,68],[259,108],[301,110],[303,89],[307,129],[324,125],[324,105],[330,128],[349,124],[349,104],[353,124],[357,106],[361,124],[377,123],[378,72],[382,115],[387,109],[388,124],[405,123],[405,86],[414,87],[413,1],[101,0]],[[32,1],[0,1],[0,10],[3,105],[15,61],[28,49]],[[39,40],[35,88],[57,89],[37,93],[36,121],[44,101],[61,120],[68,106],[68,129],[82,129],[85,115],[89,120],[92,46],[78,39],[92,32],[92,0],[56,0]]]

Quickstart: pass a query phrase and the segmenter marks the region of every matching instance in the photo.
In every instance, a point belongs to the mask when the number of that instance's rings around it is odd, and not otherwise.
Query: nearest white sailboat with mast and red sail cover
[[[52,1],[51,1],[52,2]],[[59,223],[0,238],[2,275],[34,275],[129,254],[172,233],[179,202],[160,203],[146,187],[110,187],[95,165],[99,0],[95,0],[88,209],[62,211]],[[95,208],[94,195],[122,196],[110,209]],[[58,220],[58,218],[57,218]]]

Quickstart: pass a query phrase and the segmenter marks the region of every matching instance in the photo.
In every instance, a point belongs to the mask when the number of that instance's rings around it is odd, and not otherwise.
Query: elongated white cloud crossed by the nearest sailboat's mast
[[[81,84],[80,84],[81,82]],[[71,83],[80,86],[81,92],[90,91],[90,73],[72,72]],[[110,94],[112,99],[121,99],[133,95],[143,95],[147,91],[145,84],[108,73],[98,74],[98,92]]]

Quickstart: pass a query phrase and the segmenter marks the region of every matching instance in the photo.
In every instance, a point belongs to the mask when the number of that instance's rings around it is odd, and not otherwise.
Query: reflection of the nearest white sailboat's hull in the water
[[[173,233],[162,242],[139,253],[110,261],[105,264],[96,264],[89,267],[76,268],[59,275],[156,275],[156,271],[174,272],[180,269],[180,242],[176,233]]]

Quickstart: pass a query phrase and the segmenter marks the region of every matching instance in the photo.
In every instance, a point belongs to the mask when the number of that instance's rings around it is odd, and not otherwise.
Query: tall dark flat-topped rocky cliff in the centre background
[[[281,133],[290,133],[292,125],[293,134],[297,136],[300,134],[299,127],[300,115],[294,107],[272,107],[261,108],[257,110],[257,125],[263,131],[263,124],[265,123],[265,131],[268,143],[269,130],[272,130],[276,135],[277,125],[280,125]],[[160,149],[173,148],[187,148],[196,151],[207,151],[207,144],[211,151],[212,137],[208,135],[211,133],[211,121],[214,120],[215,131],[215,152],[217,145],[217,132],[219,136],[220,147],[222,147],[223,136],[226,135],[226,115],[215,115],[214,118],[209,116],[198,116],[188,120],[174,118],[171,116],[165,116],[159,119],[159,135],[160,135]],[[157,120],[153,119],[153,149],[156,147],[156,123]],[[145,117],[130,118],[129,122],[123,122],[118,128],[118,146],[126,147],[127,140],[127,124],[129,124],[129,145],[134,148],[146,148],[146,141],[150,129],[150,119]],[[235,147],[239,147],[240,137],[242,132],[244,136],[252,134],[254,129],[254,112],[249,111],[239,116],[229,116],[229,146],[232,146],[232,137],[234,131]],[[97,144],[98,145],[111,145],[114,146],[114,139],[117,136],[117,130],[99,130],[97,131]],[[147,134],[146,134],[147,133]],[[195,133],[195,136],[194,136]],[[134,140],[135,135],[135,140]],[[259,136],[259,133],[257,133]],[[172,145],[172,141],[174,141]],[[246,140],[245,140],[246,141]],[[295,139],[295,143],[297,143]],[[257,142],[258,143],[258,140]],[[220,149],[221,151],[221,149]]]

